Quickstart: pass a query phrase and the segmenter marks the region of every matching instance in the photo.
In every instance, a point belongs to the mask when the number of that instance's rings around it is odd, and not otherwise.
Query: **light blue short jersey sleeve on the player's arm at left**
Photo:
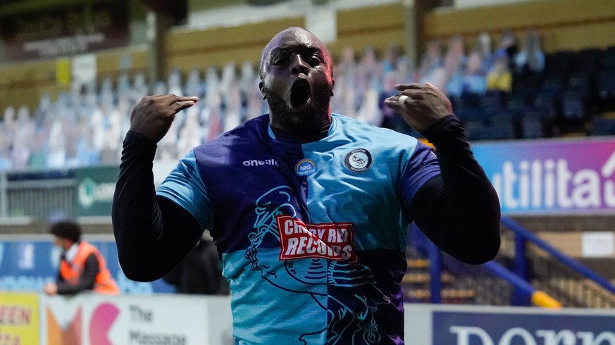
[[[194,151],[190,151],[162,182],[156,195],[163,196],[190,212],[201,229],[211,223],[211,203],[197,168]]]

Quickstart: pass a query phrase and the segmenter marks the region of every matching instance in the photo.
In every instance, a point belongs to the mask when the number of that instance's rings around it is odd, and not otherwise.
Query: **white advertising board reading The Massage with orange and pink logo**
[[[41,344],[234,344],[230,300],[165,295],[43,296]]]

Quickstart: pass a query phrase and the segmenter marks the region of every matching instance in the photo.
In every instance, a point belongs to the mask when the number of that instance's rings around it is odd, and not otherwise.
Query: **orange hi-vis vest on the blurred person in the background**
[[[70,284],[77,284],[83,267],[85,266],[85,261],[89,254],[94,254],[98,259],[98,275],[96,276],[96,280],[94,281],[94,292],[99,294],[111,294],[116,295],[120,293],[120,289],[118,285],[111,277],[111,272],[106,268],[104,258],[101,256],[101,253],[96,249],[96,247],[92,246],[85,241],[82,241],[79,244],[79,249],[77,249],[77,255],[73,259],[72,265],[68,263],[66,260],[62,260],[60,263],[60,275],[66,280],[66,282]]]

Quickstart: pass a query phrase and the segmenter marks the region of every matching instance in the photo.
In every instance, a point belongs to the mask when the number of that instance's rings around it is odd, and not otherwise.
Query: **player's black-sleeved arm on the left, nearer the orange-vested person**
[[[156,196],[152,172],[155,152],[156,144],[151,140],[132,132],[126,135],[112,217],[120,265],[132,280],[162,277],[200,234],[190,213]],[[196,237],[195,242],[190,237]]]

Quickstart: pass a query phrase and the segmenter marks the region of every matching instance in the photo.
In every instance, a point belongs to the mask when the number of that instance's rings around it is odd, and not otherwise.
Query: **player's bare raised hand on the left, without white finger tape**
[[[175,120],[175,114],[185,108],[194,106],[199,101],[195,96],[175,96],[161,94],[145,96],[132,109],[130,115],[130,130],[159,142]]]

